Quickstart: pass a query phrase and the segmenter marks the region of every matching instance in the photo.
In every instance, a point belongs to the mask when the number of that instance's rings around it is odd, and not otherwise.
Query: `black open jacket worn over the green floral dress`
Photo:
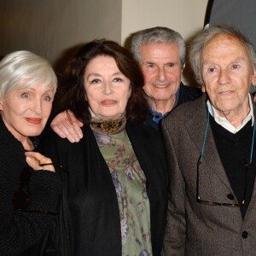
[[[127,122],[126,131],[147,178],[152,247],[160,255],[167,208],[167,175],[160,133]],[[61,256],[121,255],[119,206],[108,166],[89,125],[79,143],[51,133],[39,150],[68,170],[62,172],[63,195],[55,225]]]

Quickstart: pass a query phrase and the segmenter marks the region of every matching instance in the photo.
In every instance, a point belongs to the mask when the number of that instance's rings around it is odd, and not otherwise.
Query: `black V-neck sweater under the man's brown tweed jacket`
[[[241,216],[244,218],[249,206],[251,195],[253,192],[253,183],[256,170],[256,143],[253,144],[253,161],[248,166],[248,174],[246,181],[246,167],[245,165],[250,161],[251,146],[253,140],[253,126],[252,121],[247,122],[240,131],[233,134],[224,129],[223,126],[218,125],[210,116],[210,124],[218,154],[224,170],[229,178],[231,188],[233,189],[236,199],[239,203],[244,199],[245,183],[247,188],[245,205],[241,206]],[[255,141],[255,137],[254,137]],[[232,195],[230,195],[232,199]],[[228,199],[227,199],[228,201]]]

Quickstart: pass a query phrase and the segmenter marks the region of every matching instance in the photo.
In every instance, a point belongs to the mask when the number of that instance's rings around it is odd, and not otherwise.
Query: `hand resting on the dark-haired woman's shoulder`
[[[71,143],[78,143],[83,137],[83,132],[80,127],[83,127],[84,124],[75,118],[73,112],[70,110],[67,111],[57,114],[55,119],[50,123],[50,127],[60,137],[67,137]]]

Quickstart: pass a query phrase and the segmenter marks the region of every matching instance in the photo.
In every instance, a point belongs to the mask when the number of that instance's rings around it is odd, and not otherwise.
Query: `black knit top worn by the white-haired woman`
[[[22,144],[8,131],[0,118],[0,255],[23,255],[52,223],[54,216],[15,212],[12,198],[19,188],[21,170],[27,166]],[[61,181],[55,172],[32,172],[28,187],[31,199],[27,210],[56,211]],[[28,255],[24,253],[24,255]]]

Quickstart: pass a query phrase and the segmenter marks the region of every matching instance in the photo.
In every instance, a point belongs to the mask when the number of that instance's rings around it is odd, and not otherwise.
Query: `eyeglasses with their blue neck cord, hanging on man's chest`
[[[221,207],[242,207],[245,204],[245,200],[247,197],[247,177],[248,177],[248,166],[250,166],[250,164],[252,163],[252,159],[253,159],[253,143],[254,143],[254,134],[255,134],[255,128],[256,128],[256,124],[254,123],[253,125],[253,139],[252,139],[252,143],[251,143],[251,154],[250,154],[250,160],[248,164],[245,164],[245,170],[246,170],[246,177],[245,177],[245,184],[244,184],[244,193],[243,193],[243,199],[241,201],[241,203],[224,203],[224,202],[217,202],[217,201],[207,201],[207,200],[202,200],[201,196],[199,195],[199,183],[200,183],[200,166],[203,160],[203,154],[204,154],[204,150],[205,150],[205,146],[206,146],[206,141],[207,141],[207,131],[208,131],[208,127],[209,127],[209,111],[207,113],[207,128],[205,131],[205,137],[204,137],[204,141],[202,144],[202,148],[201,148],[201,154],[199,157],[199,160],[197,161],[197,172],[196,172],[196,201],[198,203],[204,204],[204,205],[208,205],[208,206],[221,206]]]

